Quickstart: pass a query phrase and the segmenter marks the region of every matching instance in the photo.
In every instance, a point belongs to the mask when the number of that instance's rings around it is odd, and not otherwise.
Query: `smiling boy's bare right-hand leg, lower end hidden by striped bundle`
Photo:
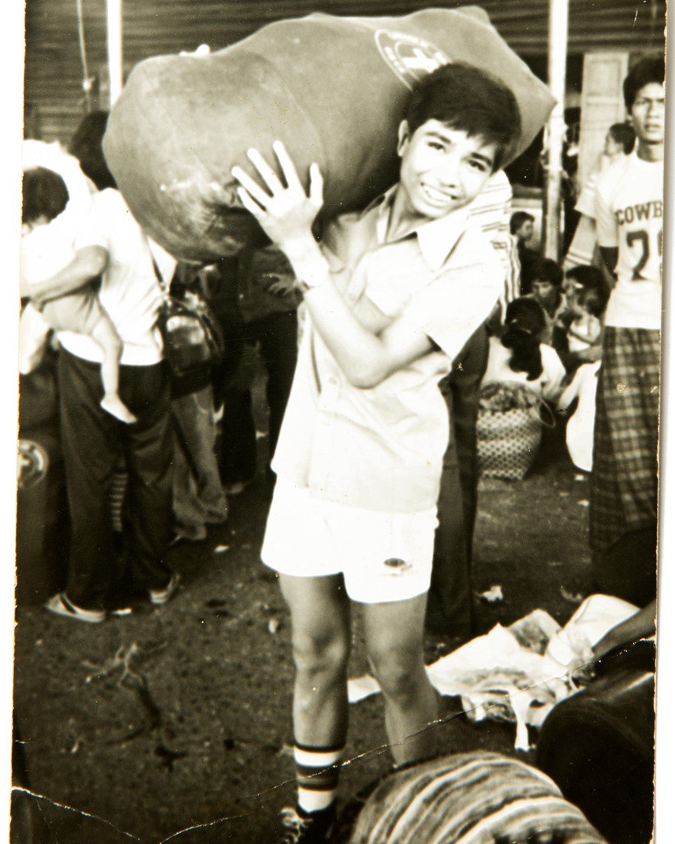
[[[364,604],[370,665],[385,699],[386,733],[397,765],[433,755],[438,696],[424,668],[427,596]]]

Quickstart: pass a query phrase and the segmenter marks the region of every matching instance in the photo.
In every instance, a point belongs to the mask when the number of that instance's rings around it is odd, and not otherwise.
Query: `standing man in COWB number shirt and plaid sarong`
[[[624,79],[634,152],[603,174],[597,239],[616,284],[605,314],[591,477],[596,586],[644,605],[656,591],[664,62]]]

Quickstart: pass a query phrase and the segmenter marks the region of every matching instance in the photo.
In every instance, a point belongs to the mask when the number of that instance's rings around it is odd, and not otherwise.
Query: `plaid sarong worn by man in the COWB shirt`
[[[606,550],[657,514],[659,331],[605,329],[591,474],[591,548]]]

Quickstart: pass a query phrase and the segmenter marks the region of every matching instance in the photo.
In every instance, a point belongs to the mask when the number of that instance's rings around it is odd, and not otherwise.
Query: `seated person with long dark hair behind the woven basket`
[[[521,381],[547,401],[555,401],[565,371],[558,353],[542,343],[546,329],[543,308],[521,296],[506,308],[500,337],[489,341],[488,367],[482,387],[494,382]]]

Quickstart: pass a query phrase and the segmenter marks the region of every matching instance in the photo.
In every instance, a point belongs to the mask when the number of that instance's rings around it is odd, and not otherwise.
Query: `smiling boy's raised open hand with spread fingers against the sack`
[[[312,164],[308,195],[284,144],[275,141],[272,146],[285,186],[257,149],[249,149],[248,157],[267,185],[267,191],[240,167],[233,167],[231,173],[240,184],[237,192],[244,208],[253,214],[270,240],[288,255],[301,250],[308,237],[314,241],[311,225],[323,204],[323,178],[318,165]]]

